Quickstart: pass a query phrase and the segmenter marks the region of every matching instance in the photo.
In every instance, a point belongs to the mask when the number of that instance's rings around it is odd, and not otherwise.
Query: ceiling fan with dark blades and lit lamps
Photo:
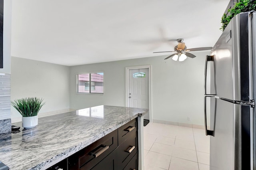
[[[187,49],[185,43],[183,42],[183,38],[177,39],[178,45],[174,47],[174,51],[160,51],[160,52],[153,52],[153,53],[167,53],[167,52],[176,52],[165,59],[168,59],[172,57],[174,61],[184,61],[187,57],[194,58],[196,55],[192,53],[188,53],[188,51],[204,51],[204,50],[210,50],[212,47],[199,47],[199,48],[190,48]]]

